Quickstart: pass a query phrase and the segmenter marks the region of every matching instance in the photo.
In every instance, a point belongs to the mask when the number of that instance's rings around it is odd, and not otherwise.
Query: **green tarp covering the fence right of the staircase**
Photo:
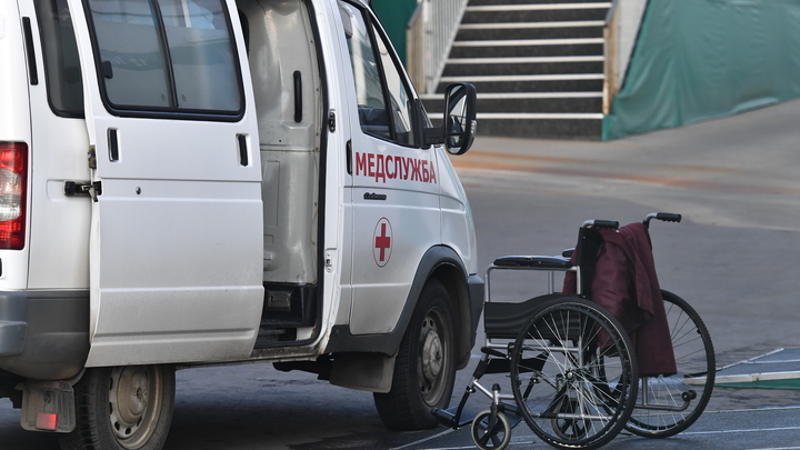
[[[603,140],[800,97],[800,0],[650,0]]]

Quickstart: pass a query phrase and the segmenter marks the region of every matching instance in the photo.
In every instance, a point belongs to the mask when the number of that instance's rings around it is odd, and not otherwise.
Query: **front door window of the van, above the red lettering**
[[[356,83],[361,130],[414,146],[412,99],[383,37],[367,24],[359,8],[339,2]],[[389,107],[387,107],[389,104]]]

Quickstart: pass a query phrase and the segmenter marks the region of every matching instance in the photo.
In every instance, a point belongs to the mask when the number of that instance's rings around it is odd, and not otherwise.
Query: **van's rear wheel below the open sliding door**
[[[174,406],[174,369],[130,366],[89,369],[76,384],[76,429],[62,450],[159,450]]]

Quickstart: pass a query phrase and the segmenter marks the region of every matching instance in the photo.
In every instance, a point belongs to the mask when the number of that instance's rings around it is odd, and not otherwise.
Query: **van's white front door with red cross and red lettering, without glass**
[[[358,9],[339,10],[340,16],[350,21],[346,27],[358,34],[362,24],[354,17]],[[384,39],[382,30],[374,31],[377,39]],[[340,40],[341,59],[347,61],[342,88],[350,101],[348,116],[358,118],[359,110],[374,92],[356,91],[357,84],[364,83],[359,80],[364,74],[353,73],[348,46],[353,47],[353,59],[362,58],[359,52],[368,49]],[[383,63],[397,64],[397,57],[389,52],[382,54]],[[387,78],[400,74],[401,78],[388,82],[410,87],[402,71],[384,70],[383,74]],[[369,134],[359,120],[351,121],[349,131],[352,152],[352,177],[347,180],[351,196],[347,200],[352,203],[352,242],[348,247],[352,263],[350,332],[356,336],[387,333],[397,327],[419,261],[428,249],[441,242],[439,184],[436,173],[431,177],[436,156],[432,148],[403,146]]]

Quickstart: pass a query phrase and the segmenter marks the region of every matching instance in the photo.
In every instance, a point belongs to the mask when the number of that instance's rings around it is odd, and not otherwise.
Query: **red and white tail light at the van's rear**
[[[0,249],[24,248],[27,189],[28,144],[0,142]]]

